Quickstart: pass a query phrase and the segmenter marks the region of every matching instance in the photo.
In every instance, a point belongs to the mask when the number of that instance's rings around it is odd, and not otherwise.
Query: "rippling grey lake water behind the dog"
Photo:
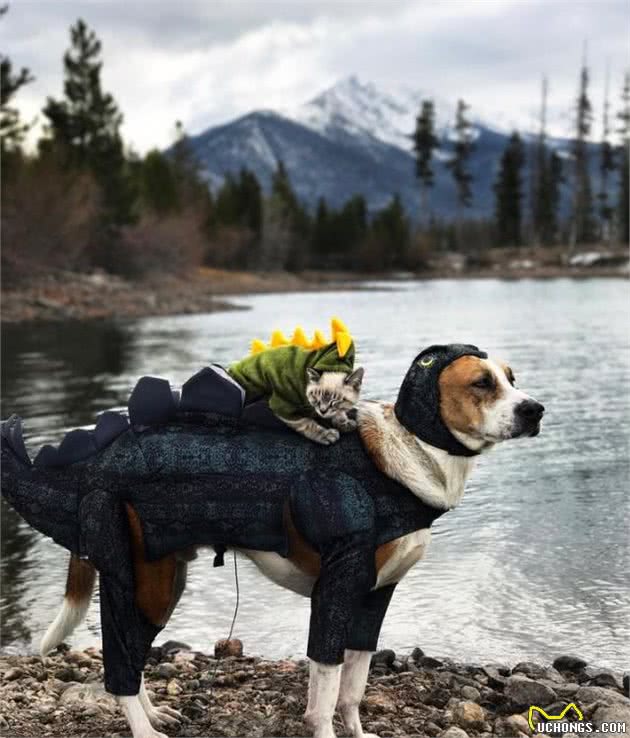
[[[248,311],[3,331],[3,415],[26,419],[29,447],[124,404],[136,378],[181,383],[229,362],[254,336],[341,315],[366,367],[364,396],[393,398],[415,353],[476,343],[507,359],[547,407],[542,434],[478,464],[457,511],[440,518],[428,557],[399,585],[381,644],[480,661],[577,652],[628,665],[630,491],[628,283],[435,281],[375,292],[245,296]],[[32,649],[63,596],[67,554],[3,501],[3,647]],[[163,634],[196,648],[226,635],[230,558],[204,554]],[[236,635],[250,653],[304,654],[308,601],[239,563]],[[99,641],[96,600],[74,643]]]

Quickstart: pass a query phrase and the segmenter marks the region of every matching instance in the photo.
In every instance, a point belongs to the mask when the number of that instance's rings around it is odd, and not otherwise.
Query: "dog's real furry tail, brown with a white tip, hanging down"
[[[96,581],[96,569],[89,561],[80,559],[75,554],[70,556],[66,594],[61,610],[48,627],[42,638],[40,653],[45,656],[80,625],[90,606],[90,598]]]

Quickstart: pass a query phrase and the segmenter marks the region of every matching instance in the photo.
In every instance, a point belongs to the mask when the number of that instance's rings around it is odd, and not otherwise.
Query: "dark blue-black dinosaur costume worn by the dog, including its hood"
[[[395,412],[408,430],[449,453],[470,454],[443,425],[437,380],[475,346],[432,346],[411,365]],[[374,465],[358,433],[321,447],[286,430],[265,403],[219,367],[201,370],[174,395],[143,377],[129,417],[103,413],[93,431],[70,431],[31,463],[21,421],[2,424],[2,492],[34,528],[88,557],[101,577],[105,685],[138,692],[151,643],[134,597],[125,504],[141,522],[145,554],[192,545],[287,554],[285,516],[319,552],[308,655],[340,663],[345,648],[375,650],[395,585],[372,591],[378,546],[429,527],[445,510],[426,505]],[[460,447],[461,446],[461,447]]]

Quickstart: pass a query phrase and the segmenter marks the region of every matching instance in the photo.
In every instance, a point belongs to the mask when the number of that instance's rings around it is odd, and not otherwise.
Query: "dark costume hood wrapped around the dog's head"
[[[462,356],[487,359],[488,354],[466,343],[436,345],[421,351],[409,367],[400,387],[394,412],[399,422],[422,441],[453,456],[476,456],[449,431],[440,412],[441,372]]]

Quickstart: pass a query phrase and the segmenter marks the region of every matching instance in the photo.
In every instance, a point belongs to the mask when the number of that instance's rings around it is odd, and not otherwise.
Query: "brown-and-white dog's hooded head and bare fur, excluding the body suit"
[[[458,345],[455,351],[450,346],[430,347],[419,354],[398,401],[361,401],[357,424],[361,443],[377,469],[411,492],[427,509],[441,514],[460,503],[480,453],[506,440],[537,435],[543,413],[539,402],[516,388],[507,365],[487,358],[476,347]],[[135,601],[148,621],[163,626],[184,591],[187,564],[194,559],[195,550],[187,548],[149,560],[137,511],[127,504],[126,515]],[[246,546],[235,548],[271,581],[312,596],[324,559],[290,516],[285,520],[285,532],[287,556]],[[429,523],[379,545],[372,552],[375,582],[371,592],[388,591],[391,596],[396,583],[423,558],[430,538]],[[64,603],[44,636],[42,654],[67,638],[84,618],[95,577],[92,563],[72,556]],[[383,616],[389,601],[385,599]],[[323,602],[322,607],[329,604]],[[104,649],[105,645],[104,637]],[[334,738],[335,709],[353,738],[376,738],[363,732],[359,717],[374,650],[373,640],[369,648],[346,648],[342,664],[311,657],[305,721],[314,738]],[[118,699],[133,738],[166,738],[159,731],[180,717],[170,707],[151,703],[144,679],[137,694]]]

